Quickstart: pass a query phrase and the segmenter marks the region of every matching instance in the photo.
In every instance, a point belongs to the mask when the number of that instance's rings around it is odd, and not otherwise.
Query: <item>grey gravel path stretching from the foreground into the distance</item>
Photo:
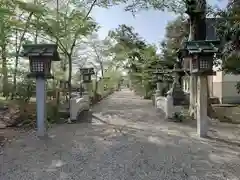
[[[237,144],[199,139],[129,90],[93,108],[93,122],[20,133],[0,155],[0,180],[238,180]]]

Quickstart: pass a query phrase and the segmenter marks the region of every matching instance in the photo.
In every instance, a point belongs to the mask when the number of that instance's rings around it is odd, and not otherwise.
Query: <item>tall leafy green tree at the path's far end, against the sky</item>
[[[114,31],[110,31],[109,36],[116,42],[110,48],[116,64],[128,69],[136,91],[143,92],[145,97],[151,96],[154,86],[150,81],[152,71],[160,60],[156,53],[157,48],[147,44],[134,32],[133,27],[126,25],[120,25]]]

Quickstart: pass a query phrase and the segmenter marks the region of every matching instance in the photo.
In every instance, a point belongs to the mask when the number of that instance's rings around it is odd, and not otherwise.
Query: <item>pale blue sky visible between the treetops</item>
[[[211,5],[223,8],[227,0],[208,0]],[[109,9],[95,8],[92,16],[100,24],[99,37],[103,39],[108,31],[115,29],[120,24],[133,26],[135,31],[149,43],[159,45],[164,39],[167,23],[174,20],[175,14],[154,10],[141,11],[135,17],[130,12],[124,11],[124,6],[114,6]]]

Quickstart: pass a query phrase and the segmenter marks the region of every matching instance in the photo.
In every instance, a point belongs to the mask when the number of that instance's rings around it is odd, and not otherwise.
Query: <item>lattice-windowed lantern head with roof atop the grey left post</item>
[[[25,44],[22,55],[30,61],[28,77],[53,78],[51,62],[60,61],[56,44]]]

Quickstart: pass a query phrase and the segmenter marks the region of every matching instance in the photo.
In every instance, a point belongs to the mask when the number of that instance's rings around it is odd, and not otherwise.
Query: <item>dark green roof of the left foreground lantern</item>
[[[56,44],[24,44],[24,57],[50,57],[52,61],[60,61]]]

